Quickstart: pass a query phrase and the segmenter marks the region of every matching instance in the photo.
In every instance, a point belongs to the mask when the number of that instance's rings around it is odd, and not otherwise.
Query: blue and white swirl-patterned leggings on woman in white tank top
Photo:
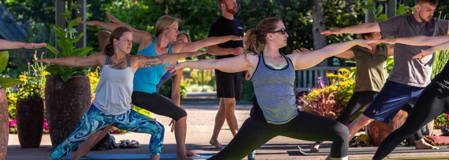
[[[127,131],[151,134],[149,154],[158,155],[161,153],[164,133],[162,124],[134,110],[128,110],[121,115],[106,115],[92,104],[76,125],[75,130],[55,148],[50,158],[53,160],[65,159],[72,150],[81,145],[89,136],[109,125]]]

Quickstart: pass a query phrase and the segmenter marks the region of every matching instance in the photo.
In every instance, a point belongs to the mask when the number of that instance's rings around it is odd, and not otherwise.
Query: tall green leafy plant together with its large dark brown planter
[[[71,6],[72,10],[81,7],[73,2]],[[72,10],[66,8],[65,13],[61,14],[68,24],[66,29],[53,26],[59,38],[56,44],[62,52],[50,45],[46,46],[56,57],[84,57],[92,50],[76,48],[75,43],[84,34],[76,33],[74,27],[79,24],[77,21],[81,20],[81,17],[72,20]],[[56,147],[69,136],[88,109],[91,103],[91,86],[86,76],[86,68],[47,66],[46,71],[50,73],[46,77],[45,85],[46,117],[51,143]]]

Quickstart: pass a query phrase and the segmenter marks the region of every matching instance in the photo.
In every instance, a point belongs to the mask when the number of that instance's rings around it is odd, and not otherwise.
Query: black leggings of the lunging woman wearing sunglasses
[[[243,159],[276,136],[300,140],[333,141],[330,157],[347,157],[349,130],[346,126],[333,119],[313,115],[309,112],[298,112],[299,114],[286,124],[269,124],[266,121],[249,117],[225,149],[210,159]]]

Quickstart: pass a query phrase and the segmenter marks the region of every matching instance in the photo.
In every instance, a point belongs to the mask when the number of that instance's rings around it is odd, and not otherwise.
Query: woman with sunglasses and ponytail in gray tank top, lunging
[[[230,73],[248,70],[252,76],[250,80],[253,81],[256,99],[250,118],[246,119],[229,145],[210,159],[242,159],[276,136],[333,141],[331,159],[347,159],[347,127],[332,119],[298,110],[293,92],[295,70],[315,66],[354,45],[371,48],[367,44],[376,41],[354,40],[304,54],[284,55],[279,48],[287,45],[287,38],[282,20],[268,17],[246,33],[244,54],[165,66],[171,72],[182,68],[219,69]]]

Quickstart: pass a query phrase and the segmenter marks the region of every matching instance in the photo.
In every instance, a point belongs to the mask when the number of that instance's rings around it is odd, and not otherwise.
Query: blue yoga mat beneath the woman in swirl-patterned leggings
[[[190,157],[191,159],[208,159],[214,154],[200,154],[199,157]],[[72,155],[67,159],[72,159]],[[80,159],[149,159],[149,154],[87,154]],[[161,154],[161,159],[176,159],[176,154]]]

